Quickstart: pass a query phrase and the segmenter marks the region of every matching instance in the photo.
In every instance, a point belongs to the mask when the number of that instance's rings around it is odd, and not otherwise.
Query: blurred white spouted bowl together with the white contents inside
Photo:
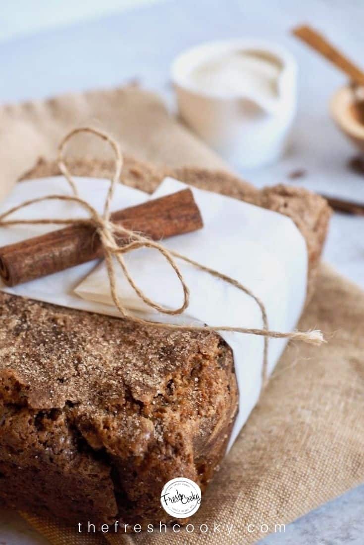
[[[181,117],[236,167],[282,154],[296,111],[296,78],[289,53],[255,41],[203,44],[172,65]]]

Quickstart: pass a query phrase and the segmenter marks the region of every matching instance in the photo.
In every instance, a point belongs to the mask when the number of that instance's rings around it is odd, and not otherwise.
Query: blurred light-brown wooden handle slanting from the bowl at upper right
[[[345,72],[350,80],[364,85],[364,72],[353,64],[344,54],[336,49],[326,38],[308,25],[301,25],[293,29],[292,33],[320,53],[332,64]]]

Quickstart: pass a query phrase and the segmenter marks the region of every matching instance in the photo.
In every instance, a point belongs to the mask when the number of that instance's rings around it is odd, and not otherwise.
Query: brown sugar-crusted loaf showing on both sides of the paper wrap
[[[108,177],[112,163],[75,161]],[[39,161],[25,178],[58,173]],[[258,191],[232,175],[170,171],[127,159],[124,183],[165,177],[289,215],[309,252],[309,291],[330,210],[285,186]],[[160,330],[0,293],[0,503],[66,524],[150,524],[165,482],[205,489],[237,411],[230,348],[216,333]]]

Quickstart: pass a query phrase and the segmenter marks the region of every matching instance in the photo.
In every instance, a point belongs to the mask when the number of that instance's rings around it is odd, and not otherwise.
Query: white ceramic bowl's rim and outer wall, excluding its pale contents
[[[201,92],[190,78],[212,56],[234,51],[264,53],[281,66],[278,98]],[[182,52],[171,67],[178,110],[186,124],[235,167],[256,167],[275,161],[283,152],[296,113],[297,65],[276,44],[256,40],[206,43]]]

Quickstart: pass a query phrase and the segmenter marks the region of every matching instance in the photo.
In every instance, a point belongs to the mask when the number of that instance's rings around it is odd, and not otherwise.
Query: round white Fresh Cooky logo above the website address
[[[177,477],[164,485],[160,493],[160,503],[164,511],[172,517],[190,517],[201,505],[201,489],[190,479]]]

